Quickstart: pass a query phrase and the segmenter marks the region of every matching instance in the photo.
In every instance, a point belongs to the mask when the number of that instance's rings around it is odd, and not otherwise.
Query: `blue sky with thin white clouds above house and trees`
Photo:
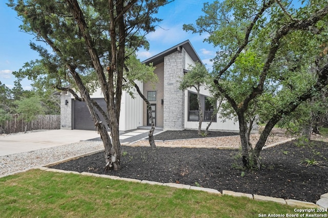
[[[38,59],[38,54],[29,46],[29,42],[34,40],[33,36],[19,31],[19,25],[22,22],[18,19],[16,12],[6,5],[6,2],[6,0],[0,1],[0,81],[12,88],[15,77],[11,72],[19,70],[30,60]],[[139,51],[138,58],[141,61],[146,60],[189,39],[203,63],[209,67],[210,59],[214,57],[216,50],[203,42],[205,36],[182,30],[183,24],[194,23],[203,14],[201,9],[205,2],[213,1],[175,0],[160,8],[157,17],[162,21],[155,32],[147,35],[150,49]],[[30,89],[30,81],[23,80],[22,86]]]

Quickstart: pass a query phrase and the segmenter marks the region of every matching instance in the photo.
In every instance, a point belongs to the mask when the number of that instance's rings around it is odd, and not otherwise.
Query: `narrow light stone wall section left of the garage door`
[[[68,104],[65,105],[65,100]],[[66,91],[60,93],[60,129],[72,129],[72,99]]]

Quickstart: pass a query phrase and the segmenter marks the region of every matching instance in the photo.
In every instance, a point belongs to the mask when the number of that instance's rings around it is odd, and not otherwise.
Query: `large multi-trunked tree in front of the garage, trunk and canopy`
[[[47,1],[10,0],[23,20],[23,31],[35,35],[31,43],[47,62],[56,87],[86,102],[105,147],[106,167],[120,168],[119,114],[125,61],[139,47],[148,48],[145,36],[155,30],[158,8],[166,0]],[[129,48],[129,49],[126,49]],[[51,51],[52,52],[51,52]],[[70,78],[79,96],[60,81]],[[90,78],[96,78],[107,104],[106,111],[90,98]],[[112,139],[96,108],[107,117]]]

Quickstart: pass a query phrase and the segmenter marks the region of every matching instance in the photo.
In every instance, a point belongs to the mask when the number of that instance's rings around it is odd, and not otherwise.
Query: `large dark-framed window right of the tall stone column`
[[[209,96],[200,95],[200,105],[203,111],[203,120],[211,121],[214,106],[211,104],[211,98]],[[216,102],[215,104],[216,105]],[[197,103],[197,94],[188,92],[188,121],[198,121],[199,111]],[[216,116],[213,117],[213,122],[216,122]]]

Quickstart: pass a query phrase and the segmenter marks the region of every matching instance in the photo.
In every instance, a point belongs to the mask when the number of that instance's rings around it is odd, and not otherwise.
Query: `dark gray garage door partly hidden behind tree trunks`
[[[103,110],[106,111],[106,102],[104,99],[93,99],[95,100]],[[97,113],[106,125],[103,115],[97,110]],[[95,130],[94,122],[91,118],[89,109],[85,102],[73,100],[73,118],[74,118],[74,129],[76,130]],[[108,128],[108,126],[106,125]]]

